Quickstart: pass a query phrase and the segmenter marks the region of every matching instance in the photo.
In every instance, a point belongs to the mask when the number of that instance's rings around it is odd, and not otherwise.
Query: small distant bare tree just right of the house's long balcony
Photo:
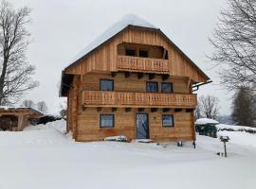
[[[201,95],[198,100],[203,117],[216,119],[219,113],[219,99],[213,95]]]

